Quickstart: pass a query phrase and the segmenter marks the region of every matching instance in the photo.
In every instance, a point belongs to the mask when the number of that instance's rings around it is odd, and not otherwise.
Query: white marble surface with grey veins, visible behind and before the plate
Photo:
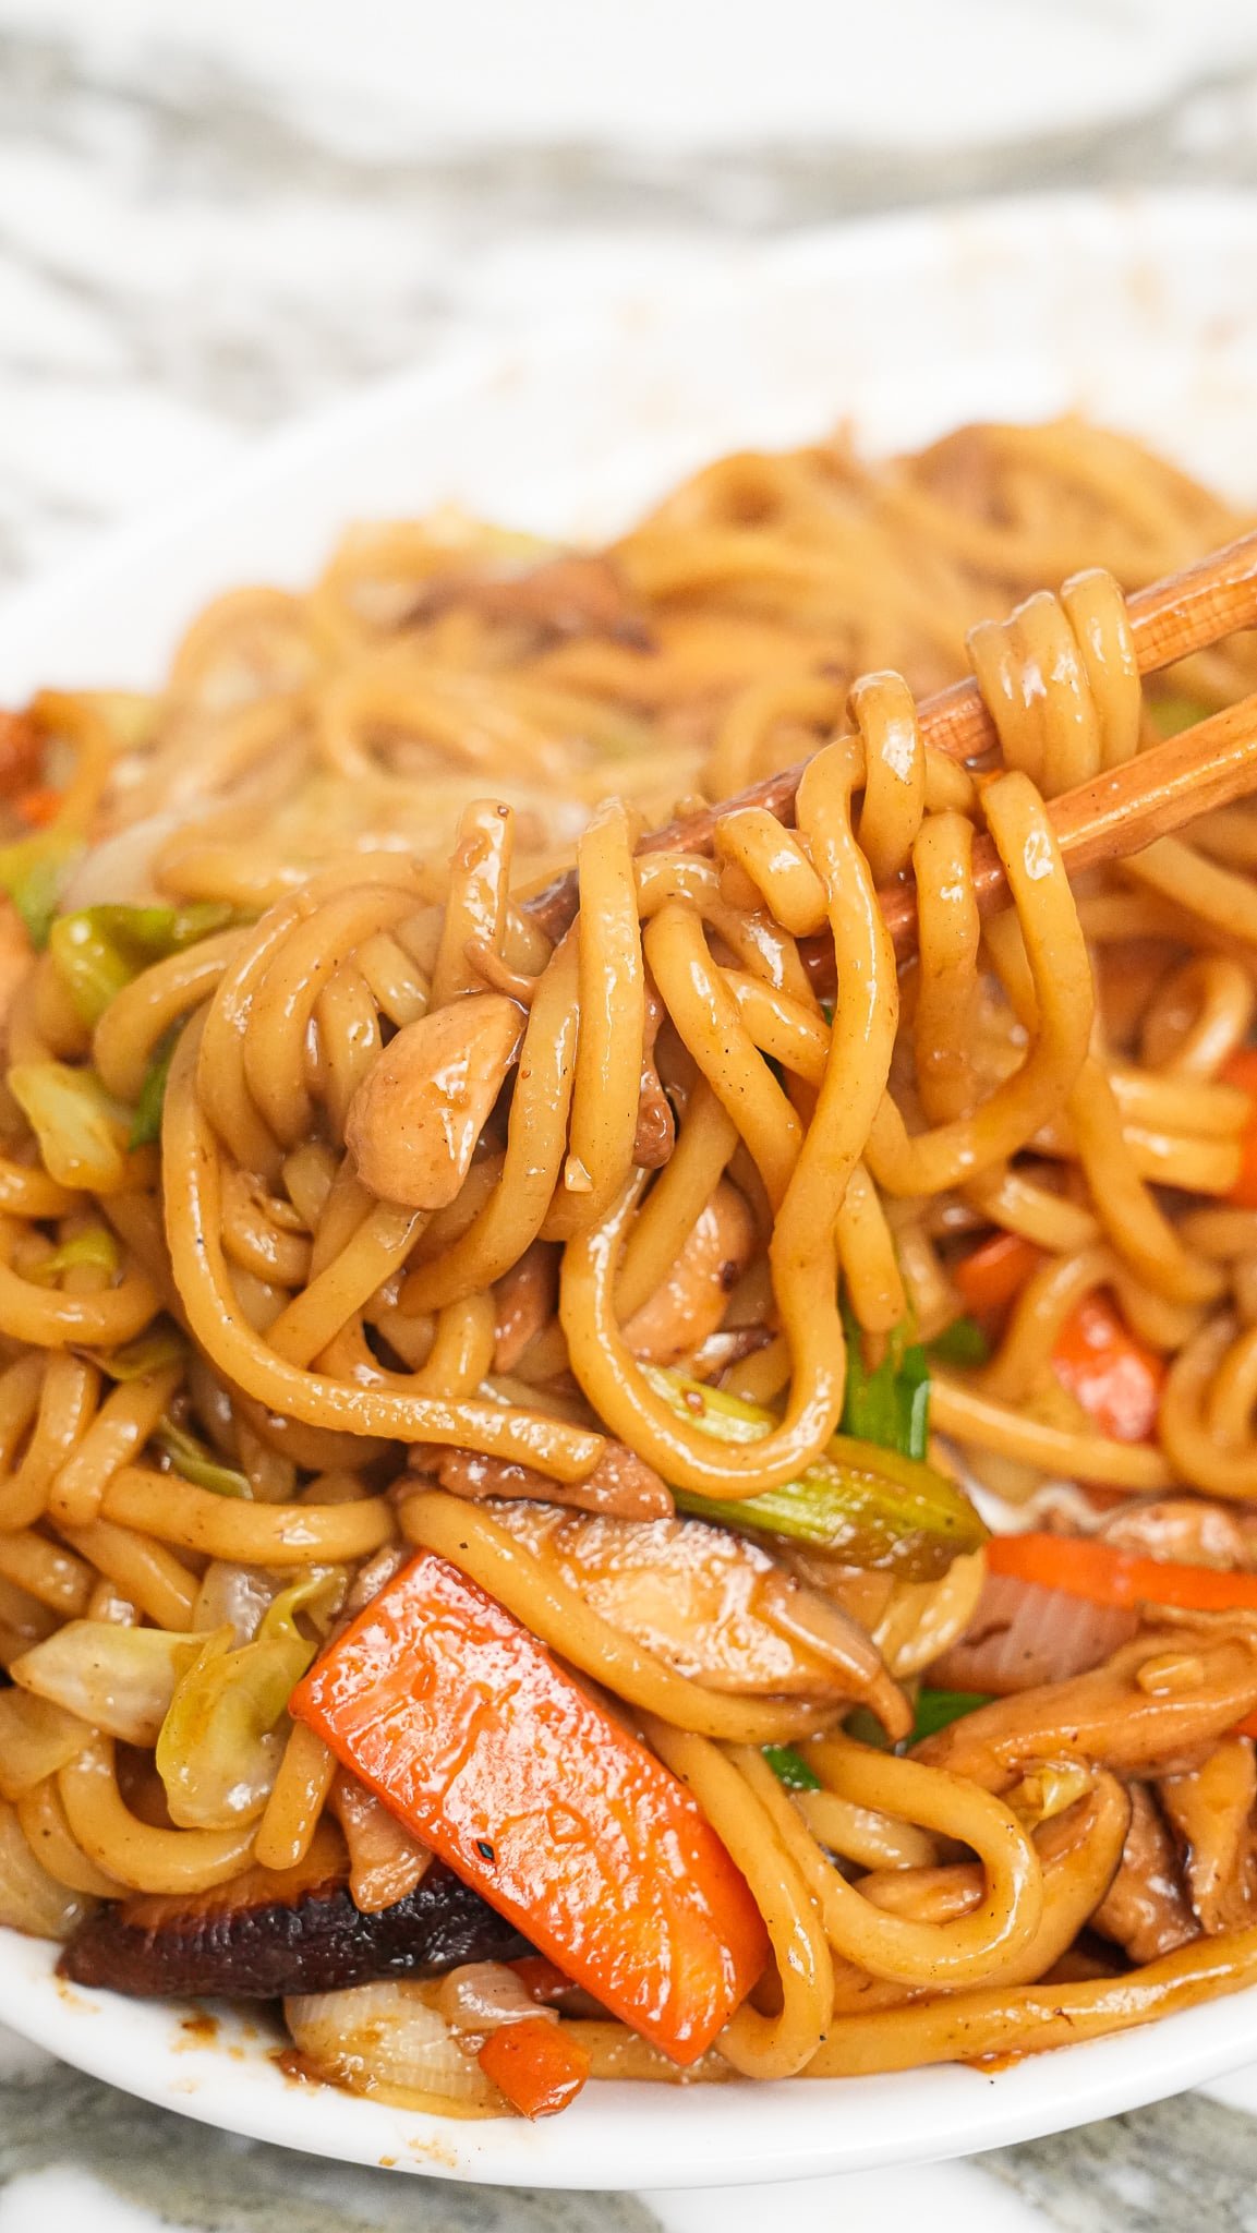
[[[902,103],[877,118],[848,100],[826,125],[810,94],[797,116],[786,96],[761,105],[761,127],[743,118],[739,138],[737,103],[708,103],[699,127],[668,100],[668,127],[636,136],[621,105],[598,138],[572,132],[572,105],[505,130],[500,107],[469,96],[460,109],[453,92],[458,130],[431,116],[420,130],[420,94],[406,100],[377,36],[382,7],[335,11],[373,31],[348,51],[344,20],[317,0],[299,36],[284,36],[297,11],[243,0],[212,16],[0,0],[0,594],[377,375],[623,299],[645,275],[683,286],[748,239],[973,192],[1257,183],[1250,0],[1199,4],[1192,38],[1179,0],[1007,0],[1027,36],[1103,33],[1112,49],[1107,92],[1061,49],[1056,109],[1023,100],[1031,138],[1000,130],[973,76],[940,83],[929,130],[915,116],[911,134]],[[404,16],[420,85],[435,18]],[[397,33],[397,7],[388,22]],[[1197,2095],[976,2164],[797,2186],[788,2202],[554,2197],[391,2179],[205,2133],[0,2034],[0,2233],[750,2233],[786,2206],[793,2233],[837,2220],[844,2233],[1239,2233],[1257,2224],[1250,2097],[1239,2081],[1237,2106]]]

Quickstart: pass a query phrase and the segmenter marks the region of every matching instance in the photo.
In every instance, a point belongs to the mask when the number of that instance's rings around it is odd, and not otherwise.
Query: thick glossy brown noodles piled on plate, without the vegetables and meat
[[[848,1338],[875,1360],[904,1324],[942,1333],[951,1248],[991,1228],[1043,1266],[989,1364],[935,1369],[933,1434],[1014,1498],[1257,1496],[1257,1213],[1224,1206],[1248,1099],[1217,1081],[1257,998],[1257,815],[1069,889],[1043,804],[1181,699],[1257,681],[1237,641],[1145,703],[1125,623],[1123,592],[1237,525],[1078,422],[877,469],[842,442],[737,456],[601,554],[455,516],[355,529],[308,594],[219,598],[161,694],[38,697],[4,737],[9,835],[31,846],[38,761],[60,911],[203,913],[94,1016],[7,924],[0,1661],[121,1623],[161,1699],[170,1639],[243,1621],[250,1588],[257,1623],[306,1581],[292,1621],[326,1632],[400,1545],[442,1552],[621,1702],[746,1873],[775,1976],[703,2077],[1016,2052],[1246,1983],[1244,1916],[1116,1974],[1076,1952],[1128,1782],[1208,1766],[1257,1704],[1246,1617],[1145,1619],[1083,1677],[1069,1737],[1031,1690],[980,1742],[958,1724],[900,1757],[844,1728],[842,1686],[739,1693],[625,1639],[509,1525],[540,1503],[652,1530],[674,1494],[797,1480],[839,1425]],[[924,750],[913,710],[969,670],[1000,730],[978,770]],[[679,802],[806,753],[793,831],[743,811],[710,857],[634,860]],[[982,927],[976,831],[1011,891]],[[527,893],[572,851],[551,947]],[[909,869],[900,969],[875,893]],[[368,1081],[395,1034],[449,1009],[458,1038],[484,996],[518,1032],[467,1175],[435,1208],[413,1170],[391,1199]],[[663,1362],[766,1407],[750,1440],[712,1436],[634,1340],[712,1215],[732,1277],[714,1315],[672,1297],[692,1338]],[[1096,1288],[1170,1360],[1152,1440],[1045,1384]],[[842,1650],[817,1601],[877,1639],[875,1704],[965,1630],[980,1556],[935,1581],[819,1559],[806,1585],[822,1661]],[[301,1860],[335,1773],[308,1728],[279,1719],[243,1798],[226,1773],[176,1827],[156,1708],[145,1735],[143,1702],[127,1719],[76,1681],[0,1693],[0,1918],[65,1936],[98,1898]],[[813,1789],[777,1780],[781,1742]],[[674,2074],[565,2021],[598,2074]]]

